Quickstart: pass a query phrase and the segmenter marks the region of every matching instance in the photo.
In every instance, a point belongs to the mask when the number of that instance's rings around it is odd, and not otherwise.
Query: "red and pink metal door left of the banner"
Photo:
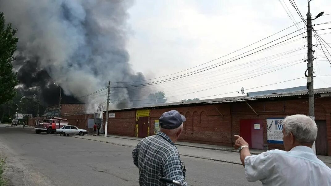
[[[263,120],[241,119],[240,136],[244,138],[250,148],[263,149]]]

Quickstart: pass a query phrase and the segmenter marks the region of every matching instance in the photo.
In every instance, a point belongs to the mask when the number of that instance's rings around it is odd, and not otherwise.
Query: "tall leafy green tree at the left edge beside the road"
[[[17,29],[12,29],[12,23],[7,26],[5,23],[4,15],[0,13],[0,104],[14,98],[18,83],[17,72],[13,71],[12,65],[18,42],[18,38],[14,37]]]

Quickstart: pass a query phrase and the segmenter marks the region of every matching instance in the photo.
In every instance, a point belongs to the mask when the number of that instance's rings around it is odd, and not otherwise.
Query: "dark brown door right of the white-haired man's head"
[[[315,141],[316,155],[328,156],[328,144],[326,138],[326,120],[316,120],[317,137]]]

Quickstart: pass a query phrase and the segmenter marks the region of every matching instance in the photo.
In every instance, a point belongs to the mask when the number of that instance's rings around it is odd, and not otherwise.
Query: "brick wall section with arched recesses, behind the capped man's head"
[[[150,112],[150,135],[154,135],[154,121],[159,120],[164,112],[170,110],[177,110],[186,117],[179,141],[228,146],[232,144],[230,105],[152,109]]]

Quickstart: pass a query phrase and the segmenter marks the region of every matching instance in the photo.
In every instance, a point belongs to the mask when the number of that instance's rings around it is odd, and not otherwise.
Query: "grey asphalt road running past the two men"
[[[0,156],[8,157],[11,185],[139,185],[131,152],[131,147],[0,124]],[[190,185],[261,185],[247,182],[238,164],[182,160]]]

